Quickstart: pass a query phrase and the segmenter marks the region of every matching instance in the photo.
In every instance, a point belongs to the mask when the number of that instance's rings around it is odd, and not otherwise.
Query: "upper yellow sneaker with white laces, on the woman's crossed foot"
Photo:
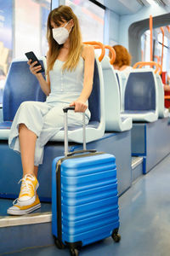
[[[20,182],[22,183],[17,203],[20,204],[20,207],[30,206],[34,201],[36,201],[36,191],[39,187],[37,177],[31,174],[26,174],[22,179],[20,179]]]

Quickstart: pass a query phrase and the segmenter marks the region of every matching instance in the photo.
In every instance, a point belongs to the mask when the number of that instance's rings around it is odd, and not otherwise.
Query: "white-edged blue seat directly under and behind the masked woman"
[[[91,119],[86,125],[86,142],[90,143],[100,139],[105,133],[105,104],[104,104],[104,79],[102,67],[95,56],[94,61],[94,84],[91,95],[88,99],[88,108],[91,112]],[[51,141],[64,141],[64,129],[60,130]],[[82,143],[82,126],[68,127],[68,140],[70,142]]]

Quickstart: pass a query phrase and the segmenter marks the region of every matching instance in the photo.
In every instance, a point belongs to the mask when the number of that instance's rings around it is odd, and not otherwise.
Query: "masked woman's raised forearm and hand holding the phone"
[[[46,76],[46,80],[45,80],[42,76],[42,73],[37,73],[39,70],[41,70],[41,66],[35,67],[36,63],[37,61],[33,62],[32,64],[31,64],[31,60],[28,61],[28,65],[30,66],[30,71],[32,74],[34,74],[37,77],[37,80],[40,83],[40,86],[42,88],[42,91],[45,93],[45,95],[48,96],[50,93],[49,75]]]

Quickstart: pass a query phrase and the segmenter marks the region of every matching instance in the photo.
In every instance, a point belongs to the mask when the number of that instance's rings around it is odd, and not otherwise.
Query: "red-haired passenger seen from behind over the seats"
[[[131,55],[128,53],[127,49],[120,44],[114,45],[113,49],[116,51],[116,60],[113,63],[114,69],[129,73],[133,67],[130,67]]]

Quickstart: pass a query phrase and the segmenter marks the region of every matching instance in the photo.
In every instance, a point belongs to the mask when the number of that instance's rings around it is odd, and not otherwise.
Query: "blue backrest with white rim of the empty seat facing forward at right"
[[[156,78],[144,69],[129,73],[124,94],[125,111],[153,111],[157,108]]]

